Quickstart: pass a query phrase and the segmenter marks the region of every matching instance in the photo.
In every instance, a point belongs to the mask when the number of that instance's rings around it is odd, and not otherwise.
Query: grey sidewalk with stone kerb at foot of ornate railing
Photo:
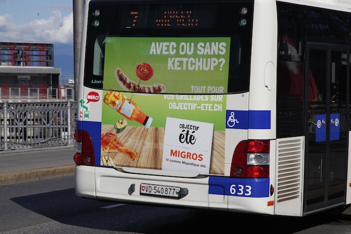
[[[73,175],[74,145],[0,151],[0,185]]]

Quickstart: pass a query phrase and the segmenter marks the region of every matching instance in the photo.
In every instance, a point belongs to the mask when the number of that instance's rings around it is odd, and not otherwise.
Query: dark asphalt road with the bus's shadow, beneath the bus
[[[347,220],[348,219],[348,220]],[[74,176],[0,186],[0,233],[351,233],[351,218],[278,217],[87,200]],[[211,228],[211,229],[212,229]]]

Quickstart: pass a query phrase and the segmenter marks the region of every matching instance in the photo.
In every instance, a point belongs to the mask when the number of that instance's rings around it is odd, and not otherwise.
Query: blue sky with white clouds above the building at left
[[[0,0],[0,41],[53,43],[54,67],[72,79],[73,0]]]

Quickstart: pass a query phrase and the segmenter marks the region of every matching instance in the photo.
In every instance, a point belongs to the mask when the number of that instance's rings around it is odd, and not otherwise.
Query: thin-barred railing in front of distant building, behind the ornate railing
[[[74,88],[0,88],[0,99],[6,100],[74,100]]]

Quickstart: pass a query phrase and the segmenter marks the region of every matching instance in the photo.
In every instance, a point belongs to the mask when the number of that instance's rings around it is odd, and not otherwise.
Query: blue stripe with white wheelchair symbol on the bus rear
[[[271,128],[271,111],[227,110],[226,128],[270,129]]]

